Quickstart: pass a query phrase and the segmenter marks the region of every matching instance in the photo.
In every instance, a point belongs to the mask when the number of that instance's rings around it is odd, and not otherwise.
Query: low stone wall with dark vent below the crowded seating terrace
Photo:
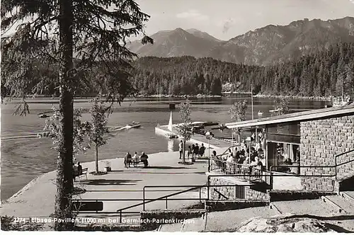
[[[236,178],[212,177],[210,185],[227,185],[210,187],[211,200],[269,200],[267,190],[257,190],[257,185],[242,186]]]

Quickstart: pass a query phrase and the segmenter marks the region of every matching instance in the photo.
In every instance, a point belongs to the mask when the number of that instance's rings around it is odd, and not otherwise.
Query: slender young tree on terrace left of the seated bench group
[[[91,131],[89,132],[89,137],[90,142],[95,144],[96,173],[98,173],[98,147],[107,143],[104,136],[108,134],[108,118],[105,116],[108,108],[98,97],[94,98],[91,103]]]

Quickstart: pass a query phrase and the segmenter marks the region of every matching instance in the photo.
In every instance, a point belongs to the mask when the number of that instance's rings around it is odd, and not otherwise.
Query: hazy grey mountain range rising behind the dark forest
[[[304,19],[289,25],[267,25],[227,41],[197,29],[164,30],[151,35],[153,45],[131,42],[140,57],[212,57],[236,64],[269,65],[298,59],[338,42],[354,42],[354,18]]]

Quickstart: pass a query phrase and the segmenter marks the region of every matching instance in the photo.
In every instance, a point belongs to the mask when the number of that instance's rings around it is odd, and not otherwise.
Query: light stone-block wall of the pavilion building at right
[[[354,159],[354,152],[338,156],[354,149],[354,115],[301,122],[300,166],[335,166]],[[354,161],[329,168],[301,168],[304,190],[332,190],[335,178],[354,176]],[[323,176],[323,177],[318,177]]]

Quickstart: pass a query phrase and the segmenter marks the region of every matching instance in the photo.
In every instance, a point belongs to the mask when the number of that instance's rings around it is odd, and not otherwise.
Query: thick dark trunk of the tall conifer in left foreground
[[[73,185],[73,90],[70,71],[73,68],[72,42],[72,0],[59,1],[59,34],[61,60],[59,67],[59,110],[60,135],[59,156],[57,159],[57,194],[55,195],[55,230],[72,230],[72,190]],[[66,221],[65,221],[66,220]]]

